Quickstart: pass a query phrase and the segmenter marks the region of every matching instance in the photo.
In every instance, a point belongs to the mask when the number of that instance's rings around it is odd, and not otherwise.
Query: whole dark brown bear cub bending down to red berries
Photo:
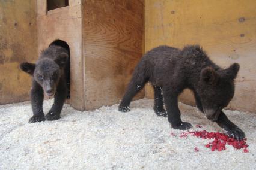
[[[154,88],[156,114],[168,115],[172,128],[186,130],[192,125],[180,119],[178,95],[188,88],[194,92],[197,107],[207,119],[218,123],[229,136],[243,139],[245,133],[222,112],[234,96],[234,79],[238,71],[237,63],[227,69],[220,68],[198,45],[182,50],[168,46],[153,48],[136,66],[119,110],[129,111],[133,96],[149,81]]]

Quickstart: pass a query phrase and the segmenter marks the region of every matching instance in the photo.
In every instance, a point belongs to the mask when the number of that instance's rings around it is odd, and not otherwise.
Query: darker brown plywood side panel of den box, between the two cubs
[[[117,103],[142,56],[143,1],[82,1],[85,108]],[[143,98],[142,91],[136,99]]]

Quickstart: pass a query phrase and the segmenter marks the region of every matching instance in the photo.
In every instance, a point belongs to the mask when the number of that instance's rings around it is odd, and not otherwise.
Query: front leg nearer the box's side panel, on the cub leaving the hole
[[[66,82],[61,78],[59,80],[56,93],[54,95],[54,103],[50,111],[46,114],[46,120],[57,120],[61,118],[61,110],[64,105],[67,96],[67,86]]]

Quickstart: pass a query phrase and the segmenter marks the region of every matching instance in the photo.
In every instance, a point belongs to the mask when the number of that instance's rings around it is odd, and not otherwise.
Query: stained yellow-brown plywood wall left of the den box
[[[0,104],[29,99],[31,78],[19,69],[37,59],[34,0],[0,1]]]

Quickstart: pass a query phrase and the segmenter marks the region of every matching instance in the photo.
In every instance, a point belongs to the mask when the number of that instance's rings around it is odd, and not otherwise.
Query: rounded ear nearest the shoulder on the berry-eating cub
[[[202,69],[200,78],[205,83],[210,84],[212,86],[216,86],[219,80],[219,75],[213,68],[207,67]]]

